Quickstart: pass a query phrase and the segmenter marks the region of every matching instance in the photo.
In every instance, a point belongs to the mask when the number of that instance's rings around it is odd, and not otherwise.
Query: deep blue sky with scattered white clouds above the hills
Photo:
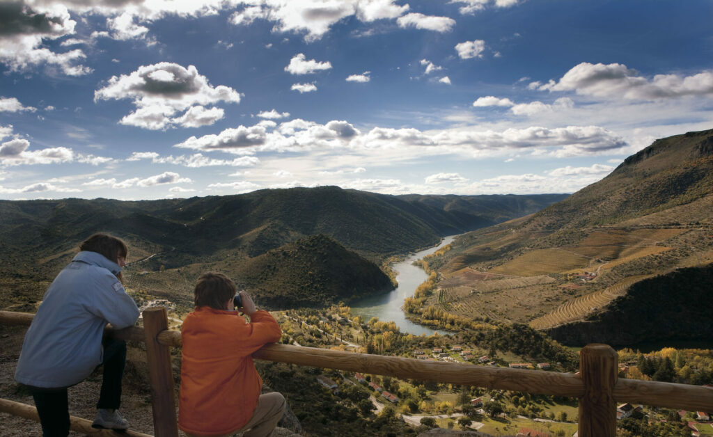
[[[0,199],[575,192],[713,128],[712,0],[0,0]]]

